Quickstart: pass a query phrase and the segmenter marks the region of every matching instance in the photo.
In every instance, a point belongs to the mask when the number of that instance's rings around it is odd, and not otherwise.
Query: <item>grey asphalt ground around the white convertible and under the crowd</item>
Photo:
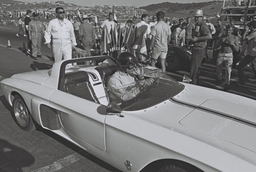
[[[38,69],[49,69],[53,62],[50,61],[51,50],[42,44],[42,58],[34,60],[22,50],[26,37],[17,37],[18,30],[0,28],[0,80],[13,74]],[[12,48],[6,48],[10,40]],[[44,40],[42,40],[44,42]],[[209,51],[209,55],[211,51]],[[210,55],[211,56],[211,55]],[[211,64],[203,64],[200,73],[200,86],[222,90],[224,83],[215,81],[216,67]],[[189,69],[177,72],[167,72],[178,81],[184,74],[189,76]],[[251,67],[246,67],[246,78],[255,81]],[[237,70],[232,70],[230,90],[228,92],[246,96],[256,100],[256,83],[247,82],[246,85],[238,85],[233,82],[238,79]],[[0,151],[3,147],[14,150],[1,158],[0,172],[117,172],[114,167],[92,156],[88,152],[74,146],[63,138],[39,128],[33,132],[22,131],[11,116],[11,107],[6,102],[2,90],[0,90]],[[6,164],[12,160],[10,164]]]

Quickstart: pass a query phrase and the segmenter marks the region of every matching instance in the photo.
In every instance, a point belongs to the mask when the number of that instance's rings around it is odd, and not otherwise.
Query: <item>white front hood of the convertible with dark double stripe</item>
[[[253,137],[256,101],[219,90],[184,85],[184,90],[173,98],[130,113],[251,160],[256,153],[256,138]]]

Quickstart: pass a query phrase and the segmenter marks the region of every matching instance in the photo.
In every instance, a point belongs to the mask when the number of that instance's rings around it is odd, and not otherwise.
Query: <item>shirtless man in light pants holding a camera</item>
[[[230,75],[233,64],[233,51],[239,50],[238,38],[232,35],[233,27],[226,26],[226,34],[221,36],[216,44],[216,48],[220,47],[216,62],[217,81],[222,80],[222,65],[225,64],[225,86],[224,91],[229,90]]]

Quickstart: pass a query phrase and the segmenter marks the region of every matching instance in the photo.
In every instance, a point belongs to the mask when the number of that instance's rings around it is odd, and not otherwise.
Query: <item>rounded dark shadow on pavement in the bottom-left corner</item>
[[[22,167],[29,166],[35,161],[26,150],[0,139],[0,171],[22,172]]]

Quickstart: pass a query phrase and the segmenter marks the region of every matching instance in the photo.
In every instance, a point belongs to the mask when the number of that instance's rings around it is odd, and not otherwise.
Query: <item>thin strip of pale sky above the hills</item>
[[[46,2],[49,0],[18,0],[21,2]],[[57,1],[57,0],[50,0]],[[64,2],[77,4],[81,6],[92,6],[92,5],[128,5],[135,6],[147,6],[150,4],[158,4],[162,2],[178,2],[178,3],[192,3],[192,2],[208,2],[212,0],[62,0]]]

